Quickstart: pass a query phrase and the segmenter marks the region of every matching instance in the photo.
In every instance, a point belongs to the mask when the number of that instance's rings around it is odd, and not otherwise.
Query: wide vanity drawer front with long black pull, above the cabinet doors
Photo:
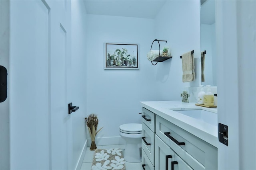
[[[216,147],[160,116],[156,116],[156,134],[193,169],[218,169]]]

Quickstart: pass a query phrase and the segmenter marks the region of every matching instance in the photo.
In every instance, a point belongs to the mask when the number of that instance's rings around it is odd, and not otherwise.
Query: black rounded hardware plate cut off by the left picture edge
[[[4,66],[0,66],[0,102],[4,102],[7,98],[7,70]]]

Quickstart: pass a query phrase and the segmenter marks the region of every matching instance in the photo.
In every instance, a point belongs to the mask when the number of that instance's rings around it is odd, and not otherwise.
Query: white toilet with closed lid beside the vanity
[[[141,123],[129,123],[119,126],[120,136],[126,141],[124,160],[127,162],[141,162]]]

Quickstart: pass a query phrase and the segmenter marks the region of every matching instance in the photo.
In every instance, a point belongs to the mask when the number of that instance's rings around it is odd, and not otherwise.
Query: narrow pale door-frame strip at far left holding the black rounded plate
[[[0,65],[9,71],[9,1],[0,1]],[[10,169],[9,99],[0,103],[0,170]]]

